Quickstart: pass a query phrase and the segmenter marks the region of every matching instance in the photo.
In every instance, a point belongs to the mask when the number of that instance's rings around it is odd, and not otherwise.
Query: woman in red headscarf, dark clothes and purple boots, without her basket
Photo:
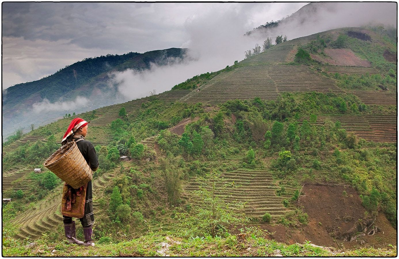
[[[63,136],[61,144],[64,145],[67,142],[75,141],[87,164],[90,166],[91,170],[95,171],[99,166],[96,151],[93,144],[91,144],[90,141],[85,140],[85,136],[87,135],[87,125],[89,123],[90,122],[87,122],[81,118],[73,119]],[[79,199],[78,197],[84,193],[86,194],[85,199]],[[94,246],[93,239],[91,238],[93,234],[94,223],[91,180],[79,189],[73,189],[71,186],[65,183],[63,194],[65,195],[62,197],[63,200],[61,204],[65,204],[65,208],[63,208],[64,211],[71,211],[72,208],[79,207],[80,205],[83,206],[83,204],[75,204],[75,202],[85,203],[84,216],[79,218],[83,226],[85,241],[82,242],[76,238],[75,221],[72,221],[72,217],[63,215],[65,237],[67,238],[67,241],[77,245]],[[61,210],[61,212],[63,212],[63,210]]]

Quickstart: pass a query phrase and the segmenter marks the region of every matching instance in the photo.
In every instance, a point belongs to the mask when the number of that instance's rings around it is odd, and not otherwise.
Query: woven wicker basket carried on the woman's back
[[[61,146],[44,162],[44,166],[75,189],[93,178],[91,168],[75,141]]]

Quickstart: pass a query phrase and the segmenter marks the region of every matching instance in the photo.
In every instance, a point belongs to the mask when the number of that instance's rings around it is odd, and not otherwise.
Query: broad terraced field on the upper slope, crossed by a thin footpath
[[[334,81],[302,65],[247,65],[217,75],[180,101],[219,104],[227,100],[277,99],[280,92],[342,92]]]

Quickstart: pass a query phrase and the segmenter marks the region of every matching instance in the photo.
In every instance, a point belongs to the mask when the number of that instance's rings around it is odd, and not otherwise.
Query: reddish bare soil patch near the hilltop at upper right
[[[371,63],[367,60],[361,60],[350,49],[324,49],[330,57],[323,57],[321,55],[310,54],[312,59],[322,63],[331,65],[345,65],[356,67],[371,67]]]

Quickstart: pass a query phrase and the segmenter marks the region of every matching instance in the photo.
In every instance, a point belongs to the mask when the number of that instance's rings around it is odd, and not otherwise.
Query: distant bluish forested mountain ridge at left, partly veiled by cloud
[[[86,97],[93,101],[85,107],[71,107],[64,113],[79,113],[113,104],[111,101],[115,101],[117,93],[108,87],[109,73],[126,69],[142,71],[150,69],[151,64],[162,66],[179,62],[184,59],[186,50],[170,48],[86,58],[40,80],[13,85],[3,90],[3,136],[16,129],[28,129],[31,124],[41,125],[59,119],[63,111],[46,112],[40,117],[32,113],[32,105],[45,99],[50,103],[72,102],[76,97]]]

